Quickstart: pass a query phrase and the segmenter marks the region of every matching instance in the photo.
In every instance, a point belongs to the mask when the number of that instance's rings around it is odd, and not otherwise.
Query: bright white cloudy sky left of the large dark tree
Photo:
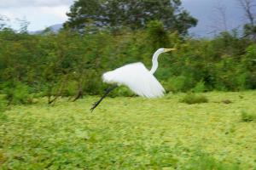
[[[12,27],[19,27],[16,18],[25,19],[30,22],[29,31],[38,31],[67,20],[72,3],[73,0],[0,0],[0,14],[12,21]]]

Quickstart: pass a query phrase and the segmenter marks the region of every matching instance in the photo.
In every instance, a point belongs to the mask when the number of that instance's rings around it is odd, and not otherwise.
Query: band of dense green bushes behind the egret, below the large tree
[[[3,28],[0,44],[0,91],[9,105],[30,104],[33,96],[55,103],[61,96],[102,94],[104,71],[137,61],[149,69],[154,50],[173,46],[177,52],[160,56],[155,75],[167,93],[256,88],[256,45],[236,32],[196,40],[166,31],[154,20],[143,31],[114,34],[63,30],[29,35]],[[126,88],[117,91],[112,95],[132,95]]]

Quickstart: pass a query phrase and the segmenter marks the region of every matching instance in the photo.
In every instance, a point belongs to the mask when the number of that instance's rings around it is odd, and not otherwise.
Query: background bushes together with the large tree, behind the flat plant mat
[[[189,37],[196,20],[179,0],[79,0],[67,15],[65,29],[40,35],[28,34],[26,21],[14,31],[0,17],[0,94],[7,105],[32,104],[37,97],[55,104],[61,97],[75,101],[102,94],[107,88],[101,82],[104,71],[138,61],[149,69],[157,48],[177,48],[160,56],[155,74],[167,93],[256,89],[252,32]],[[132,94],[119,88],[111,95]]]

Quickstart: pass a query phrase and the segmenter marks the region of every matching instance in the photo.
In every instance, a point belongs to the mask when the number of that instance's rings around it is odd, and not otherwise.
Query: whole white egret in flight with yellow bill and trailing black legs
[[[176,50],[176,48],[159,48],[156,50],[152,58],[152,68],[150,71],[148,71],[143,63],[137,62],[105,72],[102,76],[103,82],[113,84],[113,87],[106,90],[102,98],[92,105],[90,111],[93,111],[114,88],[121,85],[130,88],[132,92],[145,98],[150,99],[163,96],[165,89],[154,77],[154,72],[158,68],[159,55],[173,50]]]

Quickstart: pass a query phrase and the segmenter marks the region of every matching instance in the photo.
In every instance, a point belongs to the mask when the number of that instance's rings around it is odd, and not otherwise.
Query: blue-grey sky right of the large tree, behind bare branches
[[[199,20],[198,25],[191,29],[197,36],[208,36],[213,30],[223,28],[218,7],[224,8],[227,29],[240,28],[244,23],[243,12],[237,0],[182,0],[183,7]]]

